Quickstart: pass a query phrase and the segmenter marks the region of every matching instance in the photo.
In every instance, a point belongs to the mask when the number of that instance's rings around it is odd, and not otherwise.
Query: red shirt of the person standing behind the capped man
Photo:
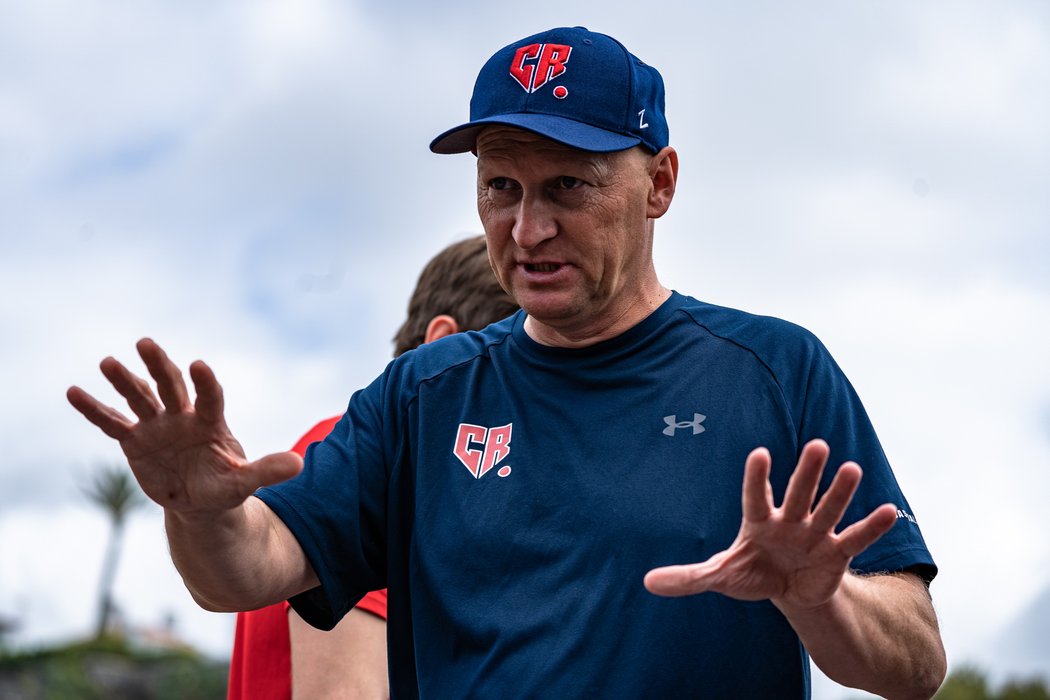
[[[295,443],[292,451],[304,454],[311,443],[323,440],[339,416],[321,421]],[[230,658],[227,700],[290,700],[292,697],[292,642],[288,634],[288,601],[248,613],[237,613]],[[357,603],[360,610],[386,619],[386,591],[373,591]]]

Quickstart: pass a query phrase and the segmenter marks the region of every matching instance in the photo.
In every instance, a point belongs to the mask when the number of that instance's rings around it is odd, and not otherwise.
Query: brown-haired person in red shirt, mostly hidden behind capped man
[[[394,357],[461,331],[477,331],[518,311],[492,276],[485,237],[448,246],[423,268],[394,338]],[[338,417],[311,428],[292,450],[323,440]],[[366,594],[330,632],[302,621],[287,602],[237,614],[230,700],[384,698],[386,592]]]

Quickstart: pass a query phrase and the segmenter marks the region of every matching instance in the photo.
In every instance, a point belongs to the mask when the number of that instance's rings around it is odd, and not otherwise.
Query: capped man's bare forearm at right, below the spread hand
[[[890,699],[931,697],[946,660],[937,616],[914,574],[846,574],[818,609],[778,606],[814,662],[833,680]]]

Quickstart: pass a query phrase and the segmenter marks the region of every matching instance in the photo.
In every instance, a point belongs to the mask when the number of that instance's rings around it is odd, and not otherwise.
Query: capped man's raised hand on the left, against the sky
[[[136,344],[156,394],[149,383],[111,357],[102,374],[124,397],[138,421],[107,406],[83,389],[66,393],[69,403],[117,440],[146,494],[170,511],[184,514],[236,508],[259,486],[295,476],[302,460],[278,452],[255,462],[231,434],[224,417],[223,388],[211,368],[190,365],[196,400],[190,402],[183,374],[148,338]]]

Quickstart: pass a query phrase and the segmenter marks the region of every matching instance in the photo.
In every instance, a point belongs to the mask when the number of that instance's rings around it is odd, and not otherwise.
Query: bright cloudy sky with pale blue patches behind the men
[[[514,7],[522,10],[512,12]],[[952,665],[1050,674],[1050,8],[1001,2],[0,0],[0,616],[90,629],[116,445],[66,403],[149,335],[250,454],[381,370],[422,263],[479,232],[462,122],[497,48],[621,39],[668,87],[665,284],[788,318],[853,380],[941,566]],[[159,509],[117,581],[216,656]],[[817,697],[841,698],[822,683]]]

